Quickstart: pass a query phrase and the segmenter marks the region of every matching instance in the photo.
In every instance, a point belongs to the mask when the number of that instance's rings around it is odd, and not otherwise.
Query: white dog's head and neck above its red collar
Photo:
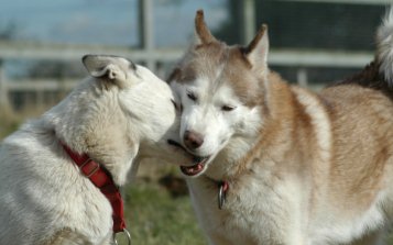
[[[118,185],[140,159],[193,162],[176,146],[179,122],[165,81],[122,57],[87,55],[83,63],[90,78],[46,114],[64,143],[105,165]]]

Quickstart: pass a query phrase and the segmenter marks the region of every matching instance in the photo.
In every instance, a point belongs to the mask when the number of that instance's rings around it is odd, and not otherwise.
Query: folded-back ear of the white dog
[[[120,87],[127,85],[128,73],[135,67],[125,58],[110,55],[85,55],[81,62],[92,77],[108,79]]]

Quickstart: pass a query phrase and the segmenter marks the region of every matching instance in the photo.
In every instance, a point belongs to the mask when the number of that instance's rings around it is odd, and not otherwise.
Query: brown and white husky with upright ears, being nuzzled
[[[227,46],[197,13],[196,44],[170,83],[183,144],[203,158],[182,170],[210,244],[381,242],[393,214],[392,26],[390,14],[374,63],[315,93],[269,69],[266,26]]]

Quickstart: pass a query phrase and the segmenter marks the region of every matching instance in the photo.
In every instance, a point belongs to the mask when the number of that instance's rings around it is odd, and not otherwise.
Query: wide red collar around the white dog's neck
[[[78,166],[80,172],[102,192],[112,205],[113,232],[123,232],[125,229],[124,207],[119,188],[114,183],[112,176],[98,163],[90,159],[87,154],[79,155],[63,144],[64,151]]]

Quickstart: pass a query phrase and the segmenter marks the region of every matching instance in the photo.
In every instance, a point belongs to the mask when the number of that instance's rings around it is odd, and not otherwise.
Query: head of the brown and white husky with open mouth
[[[196,43],[168,79],[182,110],[182,143],[200,158],[193,167],[182,167],[187,176],[225,168],[217,162],[237,162],[250,149],[266,110],[269,73],[265,25],[247,47],[217,41],[201,11],[195,31]]]

